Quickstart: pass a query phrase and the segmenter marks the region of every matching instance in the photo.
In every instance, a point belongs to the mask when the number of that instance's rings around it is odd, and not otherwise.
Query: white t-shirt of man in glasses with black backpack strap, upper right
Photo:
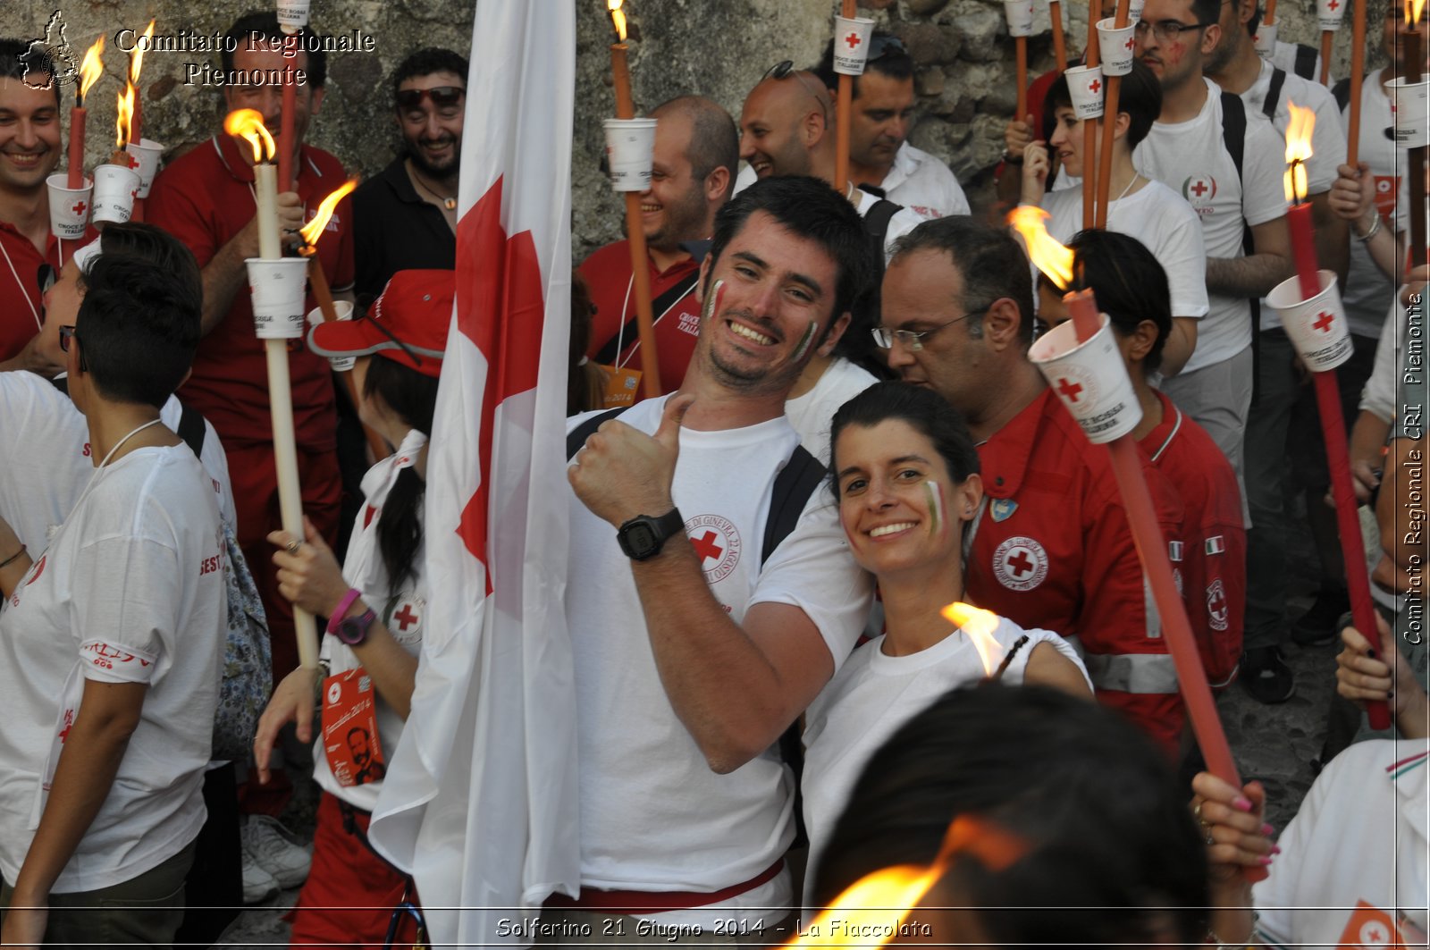
[[[1187,199],[1201,219],[1208,260],[1243,258],[1243,225],[1264,225],[1286,215],[1281,190],[1286,143],[1266,116],[1247,110],[1238,179],[1221,129],[1221,87],[1210,79],[1203,82],[1207,102],[1201,112],[1187,122],[1154,122],[1133,152],[1133,165]],[[1197,328],[1197,349],[1183,373],[1231,359],[1250,345],[1251,302],[1208,295],[1207,316]]]

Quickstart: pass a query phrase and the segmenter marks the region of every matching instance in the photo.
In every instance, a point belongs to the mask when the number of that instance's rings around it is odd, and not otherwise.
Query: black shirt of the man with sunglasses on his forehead
[[[412,187],[403,156],[353,192],[353,263],[359,296],[378,296],[398,270],[456,268],[456,235]]]

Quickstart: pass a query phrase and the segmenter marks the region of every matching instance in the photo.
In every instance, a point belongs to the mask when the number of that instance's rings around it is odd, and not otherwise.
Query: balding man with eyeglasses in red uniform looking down
[[[1075,638],[1098,700],[1175,753],[1177,675],[1108,455],[1028,361],[1032,276],[1022,248],[971,217],[927,222],[895,245],[882,308],[874,336],[889,368],[944,396],[978,444],[985,502],[968,542],[968,599]],[[1163,534],[1175,541],[1181,501],[1143,462]]]

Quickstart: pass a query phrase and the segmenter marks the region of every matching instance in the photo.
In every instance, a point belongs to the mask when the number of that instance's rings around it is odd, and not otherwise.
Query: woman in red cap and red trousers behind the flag
[[[277,730],[296,721],[299,738],[312,738],[319,697],[313,777],[323,794],[313,867],[293,911],[295,944],[382,946],[389,926],[402,943],[425,940],[412,880],[372,850],[368,823],[412,707],[426,621],[422,501],[453,290],[450,270],[399,270],[365,318],[322,323],[309,338],[313,352],[352,363],[359,416],[398,451],[363,476],[365,504],[342,569],[312,525],[302,539],[269,535],[279,591],[330,618],[322,665],[279,684],[255,740],[259,780],[267,781]]]

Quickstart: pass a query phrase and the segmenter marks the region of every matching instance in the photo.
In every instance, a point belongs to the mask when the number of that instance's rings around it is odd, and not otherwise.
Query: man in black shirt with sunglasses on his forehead
[[[398,270],[456,266],[466,59],[436,47],[418,50],[393,72],[392,94],[402,149],[353,192],[359,296],[378,296]]]

